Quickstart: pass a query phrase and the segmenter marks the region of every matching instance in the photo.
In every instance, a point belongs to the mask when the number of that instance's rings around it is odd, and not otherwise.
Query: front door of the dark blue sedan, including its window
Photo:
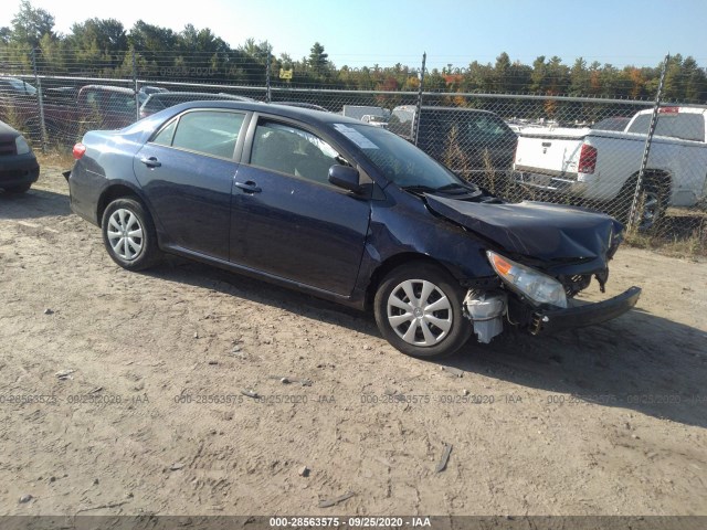
[[[253,119],[233,188],[231,261],[350,295],[363,254],[370,199],[328,182],[352,160],[316,131]],[[247,163],[245,163],[247,162]]]

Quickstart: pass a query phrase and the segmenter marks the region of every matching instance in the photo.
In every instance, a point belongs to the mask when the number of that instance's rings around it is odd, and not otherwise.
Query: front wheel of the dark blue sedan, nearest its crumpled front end
[[[389,273],[378,287],[376,322],[386,340],[408,356],[449,356],[472,335],[463,299],[462,287],[446,271],[410,263]]]

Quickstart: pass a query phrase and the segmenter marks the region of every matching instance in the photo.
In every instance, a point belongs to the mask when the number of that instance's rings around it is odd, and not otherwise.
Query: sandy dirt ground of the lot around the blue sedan
[[[43,168],[0,193],[0,515],[705,515],[707,263],[622,248],[609,294],[634,284],[449,371],[308,296],[118,268]]]

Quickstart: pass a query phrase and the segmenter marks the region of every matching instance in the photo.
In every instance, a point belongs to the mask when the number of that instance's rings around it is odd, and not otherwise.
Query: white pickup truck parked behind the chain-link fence
[[[518,182],[562,202],[604,204],[627,218],[653,109],[639,112],[622,131],[592,128],[524,128],[514,160]],[[707,177],[707,109],[661,107],[644,173],[647,229],[668,205],[704,200]]]

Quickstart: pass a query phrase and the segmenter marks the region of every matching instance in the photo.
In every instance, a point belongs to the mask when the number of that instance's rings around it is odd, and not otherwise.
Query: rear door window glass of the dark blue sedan
[[[219,110],[187,113],[160,130],[152,142],[212,157],[233,158],[244,118],[243,114]]]

